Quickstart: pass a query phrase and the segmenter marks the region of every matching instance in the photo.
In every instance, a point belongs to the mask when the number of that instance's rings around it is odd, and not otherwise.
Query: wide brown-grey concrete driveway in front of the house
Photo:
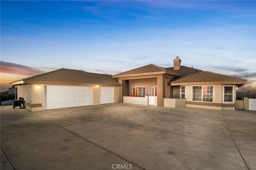
[[[256,111],[1,106],[1,170],[256,169]]]

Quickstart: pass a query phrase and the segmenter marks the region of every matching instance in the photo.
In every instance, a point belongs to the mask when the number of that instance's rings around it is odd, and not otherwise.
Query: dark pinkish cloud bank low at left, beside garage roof
[[[0,61],[1,73],[7,74],[16,74],[16,75],[25,75],[25,76],[33,76],[44,73],[45,71],[36,69],[33,67],[28,67],[26,65],[16,64],[16,63],[9,63]]]

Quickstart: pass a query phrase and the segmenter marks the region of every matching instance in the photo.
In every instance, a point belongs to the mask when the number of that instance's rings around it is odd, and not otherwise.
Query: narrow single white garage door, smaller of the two
[[[114,87],[100,87],[100,104],[114,103]]]

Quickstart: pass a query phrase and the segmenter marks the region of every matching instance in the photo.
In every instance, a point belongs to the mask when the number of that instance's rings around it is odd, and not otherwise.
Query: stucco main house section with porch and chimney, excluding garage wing
[[[236,88],[246,79],[181,66],[178,57],[173,62],[174,67],[150,64],[113,75],[122,84],[119,101],[160,107],[235,109]]]

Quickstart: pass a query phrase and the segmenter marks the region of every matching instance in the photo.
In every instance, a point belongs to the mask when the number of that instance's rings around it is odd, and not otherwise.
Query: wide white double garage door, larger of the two
[[[46,109],[92,105],[92,87],[46,86]]]

